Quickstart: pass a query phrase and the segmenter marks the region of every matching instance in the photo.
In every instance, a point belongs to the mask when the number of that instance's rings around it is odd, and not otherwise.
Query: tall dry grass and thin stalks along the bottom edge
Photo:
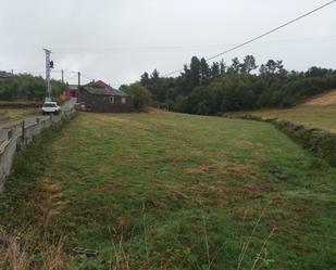
[[[206,213],[202,206],[202,202],[200,202],[200,215],[203,224],[203,240],[204,240],[204,257],[207,258],[206,266],[199,266],[198,263],[189,265],[188,269],[207,269],[212,270],[216,269],[215,260],[223,253],[224,245],[216,250],[215,256],[210,254],[210,240],[208,235],[208,226]],[[82,262],[78,266],[78,260],[76,257],[71,257],[66,248],[64,247],[65,237],[52,236],[50,234],[46,235],[41,233],[40,230],[29,229],[25,230],[24,233],[18,233],[18,237],[8,237],[9,241],[5,245],[0,246],[0,269],[8,270],[73,270],[73,269],[83,269],[89,260],[91,260],[91,265],[95,265],[97,270],[132,270],[132,269],[178,269],[174,266],[174,258],[166,258],[165,261],[160,260],[157,256],[152,256],[148,248],[147,237],[148,237],[148,229],[146,223],[146,208],[145,204],[142,205],[142,216],[144,216],[144,243],[146,245],[144,252],[145,255],[142,259],[137,259],[136,254],[130,252],[132,240],[125,241],[124,239],[124,230],[119,230],[114,227],[108,227],[110,235],[111,235],[111,255],[110,260],[107,262],[92,262],[95,259],[82,257]],[[265,237],[260,252],[256,254],[256,259],[246,268],[245,255],[252,244],[253,235],[257,231],[258,226],[262,217],[264,216],[265,209],[262,210],[258,220],[254,223],[251,234],[246,239],[241,236],[242,245],[239,257],[237,259],[237,270],[240,269],[262,269],[264,266],[267,266],[272,262],[271,259],[267,258],[266,246],[270,239],[273,236],[275,229],[273,229],[270,234]],[[1,233],[4,234],[3,232]],[[1,235],[0,234],[0,235]],[[84,259],[83,259],[84,258]],[[159,261],[160,260],[160,261]],[[136,267],[135,267],[136,261]],[[245,267],[242,267],[245,265]],[[206,267],[206,268],[204,268]],[[86,269],[86,268],[84,268]],[[91,269],[91,268],[89,268]]]

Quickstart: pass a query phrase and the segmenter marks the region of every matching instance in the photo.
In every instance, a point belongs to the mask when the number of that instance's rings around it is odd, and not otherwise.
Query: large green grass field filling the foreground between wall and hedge
[[[0,223],[40,227],[49,208],[65,250],[100,250],[78,269],[336,265],[336,170],[270,124],[82,113],[51,137],[17,158],[29,166],[9,179]]]

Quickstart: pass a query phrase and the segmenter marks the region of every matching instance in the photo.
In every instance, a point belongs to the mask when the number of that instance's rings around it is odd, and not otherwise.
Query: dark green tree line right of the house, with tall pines
[[[177,77],[154,69],[138,82],[149,90],[152,105],[176,112],[215,115],[229,111],[290,107],[309,97],[336,88],[336,70],[311,67],[287,70],[283,61],[257,65],[253,55],[211,65],[194,56]]]

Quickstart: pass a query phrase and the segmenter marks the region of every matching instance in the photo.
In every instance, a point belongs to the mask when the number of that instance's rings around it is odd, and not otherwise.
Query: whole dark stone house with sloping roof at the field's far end
[[[101,80],[80,88],[79,103],[85,111],[97,113],[126,113],[134,108],[130,95]]]

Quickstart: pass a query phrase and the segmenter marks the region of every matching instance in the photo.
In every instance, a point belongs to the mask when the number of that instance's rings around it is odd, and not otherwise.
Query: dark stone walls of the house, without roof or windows
[[[85,111],[97,113],[127,113],[133,111],[133,100],[130,97],[114,95],[114,103],[110,102],[112,95],[91,94],[82,90],[79,94],[80,103],[85,104]],[[122,103],[122,98],[126,103]]]

